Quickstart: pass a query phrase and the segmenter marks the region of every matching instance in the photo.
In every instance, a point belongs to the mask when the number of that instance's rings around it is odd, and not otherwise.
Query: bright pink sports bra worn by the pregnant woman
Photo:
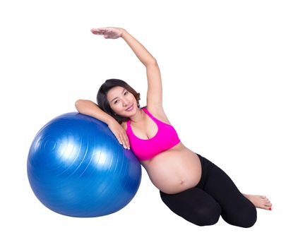
[[[145,107],[142,109],[151,119],[153,119],[153,121],[155,121],[158,130],[153,138],[141,139],[133,134],[131,120],[129,119],[129,121],[127,121],[126,134],[129,137],[131,150],[136,157],[138,157],[139,161],[151,159],[160,152],[168,150],[180,143],[179,136],[171,125],[156,119]]]

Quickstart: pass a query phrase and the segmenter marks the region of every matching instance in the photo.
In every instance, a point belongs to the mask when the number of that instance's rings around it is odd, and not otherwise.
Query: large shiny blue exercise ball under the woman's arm
[[[32,191],[50,210],[98,217],[136,195],[141,164],[106,123],[78,112],[57,116],[35,136],[27,161]]]

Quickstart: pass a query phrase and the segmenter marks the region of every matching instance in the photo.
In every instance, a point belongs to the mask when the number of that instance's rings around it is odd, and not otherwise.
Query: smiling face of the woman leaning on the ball
[[[107,92],[107,100],[114,113],[119,116],[131,117],[138,110],[136,98],[126,88],[120,86],[114,87]],[[131,106],[132,109],[130,109]]]

